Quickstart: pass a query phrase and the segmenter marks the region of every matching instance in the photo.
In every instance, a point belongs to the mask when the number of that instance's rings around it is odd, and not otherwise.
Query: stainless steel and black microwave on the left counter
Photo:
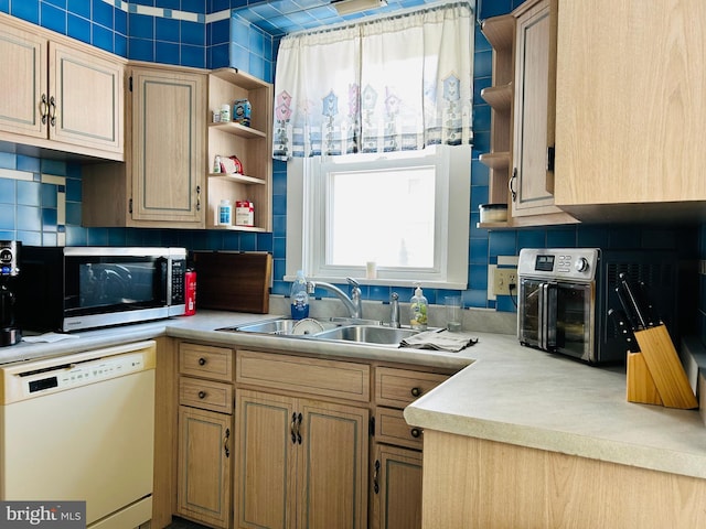
[[[22,248],[18,321],[69,332],[184,313],[184,248]]]

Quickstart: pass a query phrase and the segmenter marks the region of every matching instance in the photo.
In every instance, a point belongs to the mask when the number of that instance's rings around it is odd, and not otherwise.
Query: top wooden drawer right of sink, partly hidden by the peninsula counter
[[[378,367],[375,370],[375,403],[405,408],[447,378],[434,373]]]

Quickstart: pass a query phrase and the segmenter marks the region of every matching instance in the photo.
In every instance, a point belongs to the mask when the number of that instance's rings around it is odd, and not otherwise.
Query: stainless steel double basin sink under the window
[[[413,328],[387,327],[381,323],[361,321],[335,322],[334,320],[290,320],[279,317],[248,323],[218,331],[234,333],[259,333],[269,335],[301,336],[309,339],[325,339],[346,343],[399,346],[399,343],[417,334]]]

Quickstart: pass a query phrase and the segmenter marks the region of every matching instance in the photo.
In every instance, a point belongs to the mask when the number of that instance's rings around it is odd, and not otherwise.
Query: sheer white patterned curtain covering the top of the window
[[[284,37],[274,156],[471,143],[473,23],[462,2]]]

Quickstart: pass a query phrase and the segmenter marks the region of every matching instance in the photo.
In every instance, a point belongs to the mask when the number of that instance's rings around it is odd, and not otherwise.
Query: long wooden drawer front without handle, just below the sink
[[[238,350],[236,366],[238,384],[317,397],[371,400],[371,368],[366,364]]]

